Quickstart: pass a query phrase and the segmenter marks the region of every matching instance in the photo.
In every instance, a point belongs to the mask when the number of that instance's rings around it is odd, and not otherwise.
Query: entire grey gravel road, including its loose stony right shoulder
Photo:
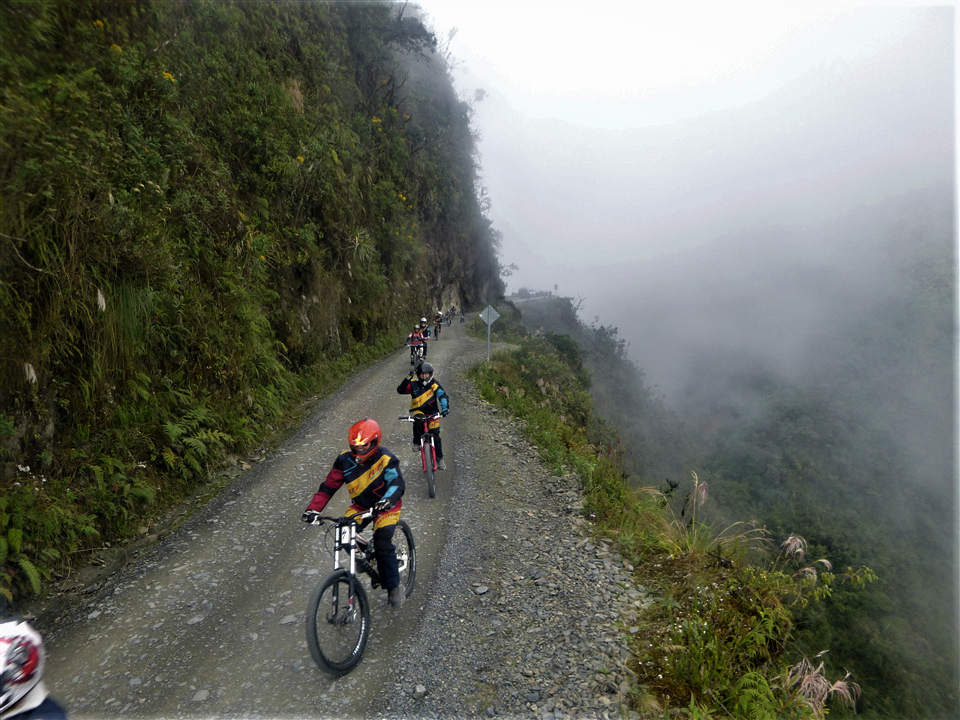
[[[626,637],[653,602],[591,537],[578,481],[556,477],[480,400],[464,371],[486,343],[454,324],[430,347],[451,395],[449,470],[429,499],[396,420],[401,352],[320,403],[276,451],[175,532],[105,579],[38,609],[46,678],[81,718],[617,718],[629,716]],[[312,663],[304,611],[329,571],[299,521],[344,433],[377,419],[403,460],[417,587],[399,609],[371,592],[361,664],[339,680]],[[347,505],[343,489],[332,511]]]

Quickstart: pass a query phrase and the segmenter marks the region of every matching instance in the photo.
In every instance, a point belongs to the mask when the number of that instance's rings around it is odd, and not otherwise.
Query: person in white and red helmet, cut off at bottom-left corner
[[[0,620],[0,718],[67,720],[41,679],[46,653],[40,633],[21,617]]]

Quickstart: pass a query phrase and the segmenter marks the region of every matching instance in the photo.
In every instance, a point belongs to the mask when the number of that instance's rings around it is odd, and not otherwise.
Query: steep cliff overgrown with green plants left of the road
[[[0,590],[500,294],[436,51],[403,5],[0,4]]]

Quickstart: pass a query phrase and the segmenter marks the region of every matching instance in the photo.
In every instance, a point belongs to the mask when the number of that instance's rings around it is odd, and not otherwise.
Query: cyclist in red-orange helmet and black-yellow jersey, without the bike
[[[380,444],[383,433],[375,420],[364,418],[353,424],[344,450],[333,461],[333,468],[313,496],[301,516],[304,522],[318,524],[318,515],[323,512],[330,498],[344,483],[353,503],[345,515],[354,517],[373,509],[373,549],[377,557],[380,579],[387,590],[392,607],[403,604],[400,587],[400,570],[397,551],[393,545],[393,532],[400,520],[403,505],[404,482],[400,474],[400,459]],[[361,527],[367,523],[363,523]]]

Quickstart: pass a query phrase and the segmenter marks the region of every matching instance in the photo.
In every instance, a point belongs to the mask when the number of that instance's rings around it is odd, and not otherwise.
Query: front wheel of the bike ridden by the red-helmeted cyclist
[[[360,578],[340,570],[323,580],[307,605],[307,647],[321,670],[334,677],[353,670],[370,638],[370,601]]]

